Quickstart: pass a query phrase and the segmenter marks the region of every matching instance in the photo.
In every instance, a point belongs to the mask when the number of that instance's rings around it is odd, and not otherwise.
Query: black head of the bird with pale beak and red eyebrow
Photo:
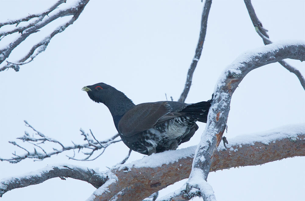
[[[86,91],[91,100],[104,104],[111,99],[113,93],[118,91],[114,87],[102,82],[90,86],[84,86],[81,90]]]

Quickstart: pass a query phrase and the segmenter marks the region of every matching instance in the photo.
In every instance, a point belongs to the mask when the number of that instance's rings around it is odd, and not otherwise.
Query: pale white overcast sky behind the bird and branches
[[[38,13],[55,0],[0,0],[0,22]],[[71,2],[68,0],[67,2]],[[305,1],[253,0],[257,16],[273,42],[305,39]],[[91,0],[79,19],[56,35],[44,53],[19,72],[0,72],[0,156],[23,153],[8,141],[32,133],[23,120],[66,145],[83,143],[79,129],[91,129],[99,140],[117,133],[106,106],[91,101],[83,86],[105,82],[123,91],[135,104],[178,100],[199,36],[203,3],[181,1]],[[9,57],[24,56],[30,45],[60,23],[52,22],[23,42]],[[3,29],[0,29],[0,31]],[[11,38],[17,37],[17,34]],[[8,40],[3,39],[0,47]],[[187,103],[208,100],[223,69],[241,53],[263,46],[242,0],[213,0],[202,56],[193,77]],[[305,63],[287,60],[305,75]],[[230,138],[305,122],[305,93],[296,76],[280,64],[251,71],[235,91],[228,118]],[[179,148],[195,145],[205,127],[199,123],[194,137]],[[21,143],[21,142],[20,142]],[[48,150],[52,147],[48,146]],[[106,170],[128,152],[112,145],[91,162],[68,160],[63,153],[43,161],[0,162],[0,179],[34,171],[46,165],[69,163]],[[83,155],[77,155],[81,158]],[[128,161],[143,155],[132,152]],[[304,198],[305,159],[295,157],[261,166],[248,166],[209,174],[217,200],[295,200]],[[160,192],[165,195],[184,181]],[[8,200],[85,200],[95,190],[74,179],[53,178],[42,184],[15,189]],[[201,200],[196,198],[196,200]]]

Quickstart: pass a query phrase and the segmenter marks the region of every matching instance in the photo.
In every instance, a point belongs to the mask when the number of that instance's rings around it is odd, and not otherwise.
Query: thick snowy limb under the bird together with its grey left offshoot
[[[227,149],[223,145],[218,147],[210,171],[305,156],[305,124],[242,135],[229,139],[227,146]],[[71,165],[47,166],[29,174],[0,180],[0,196],[14,188],[39,184],[50,178],[70,177],[100,187],[88,200],[145,199],[168,185],[188,178],[195,151],[196,146],[192,146],[152,154],[141,160],[114,166],[102,173]]]

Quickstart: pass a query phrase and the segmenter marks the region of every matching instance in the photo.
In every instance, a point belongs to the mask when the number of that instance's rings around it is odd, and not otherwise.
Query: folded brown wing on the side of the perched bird
[[[171,111],[172,107],[166,101],[138,104],[127,111],[120,119],[118,130],[122,135],[130,137],[136,133],[152,128],[159,119],[164,122],[169,117],[171,117],[170,119],[174,118],[173,115],[169,114]]]

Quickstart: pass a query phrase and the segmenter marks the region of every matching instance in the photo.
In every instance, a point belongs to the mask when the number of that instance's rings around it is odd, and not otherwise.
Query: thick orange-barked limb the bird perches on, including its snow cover
[[[229,139],[227,149],[223,145],[218,147],[209,170],[259,165],[287,157],[304,156],[304,137],[303,124]],[[196,146],[192,146],[116,166],[110,170],[112,178],[116,179],[97,189],[89,200],[144,199],[153,192],[188,178],[195,151]],[[172,200],[170,196],[162,199]]]

